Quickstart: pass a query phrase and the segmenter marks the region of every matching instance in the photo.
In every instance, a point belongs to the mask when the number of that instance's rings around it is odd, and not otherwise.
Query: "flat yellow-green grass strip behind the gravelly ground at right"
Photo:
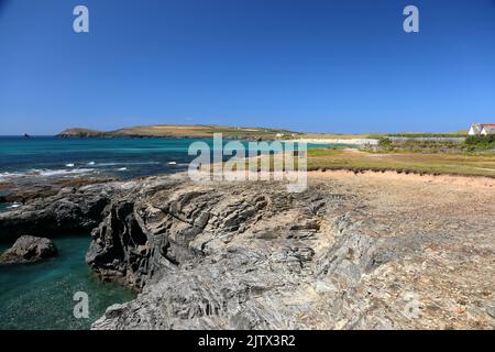
[[[367,153],[349,148],[317,148],[308,151],[308,169],[371,169],[495,177],[495,155]]]

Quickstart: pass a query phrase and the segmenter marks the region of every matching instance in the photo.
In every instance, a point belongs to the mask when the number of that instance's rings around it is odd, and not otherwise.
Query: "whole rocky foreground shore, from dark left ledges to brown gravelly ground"
[[[94,329],[493,329],[492,185],[363,177],[63,187],[0,233],[91,232],[89,267],[139,293]]]

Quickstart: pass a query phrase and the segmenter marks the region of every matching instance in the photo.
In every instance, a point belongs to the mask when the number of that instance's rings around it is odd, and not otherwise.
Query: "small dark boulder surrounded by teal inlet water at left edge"
[[[35,263],[57,255],[57,249],[50,239],[22,235],[0,256],[0,264]]]

